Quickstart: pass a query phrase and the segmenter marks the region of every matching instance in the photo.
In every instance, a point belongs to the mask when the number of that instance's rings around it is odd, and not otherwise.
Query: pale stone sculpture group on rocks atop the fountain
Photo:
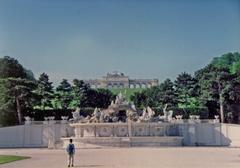
[[[173,111],[167,110],[166,104],[163,113],[164,115],[156,116],[149,106],[144,107],[142,111],[138,111],[134,104],[125,100],[124,96],[120,92],[115,101],[111,102],[111,105],[107,109],[95,108],[92,116],[83,117],[80,112],[80,108],[77,108],[73,115],[74,122],[80,123],[108,123],[108,122],[170,122],[172,120]]]

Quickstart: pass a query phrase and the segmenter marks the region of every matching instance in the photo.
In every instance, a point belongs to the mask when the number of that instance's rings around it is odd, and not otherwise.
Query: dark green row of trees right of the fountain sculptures
[[[135,93],[131,100],[143,106],[188,109],[198,114],[205,109],[209,117],[238,122],[240,116],[240,54],[227,53],[214,58],[194,75],[179,74],[175,81],[166,79],[159,86]]]

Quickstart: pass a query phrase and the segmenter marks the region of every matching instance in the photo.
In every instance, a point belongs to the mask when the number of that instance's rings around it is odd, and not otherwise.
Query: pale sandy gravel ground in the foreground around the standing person
[[[0,168],[65,168],[64,150],[0,149],[0,154],[31,156],[31,159],[0,165]],[[239,168],[239,148],[112,148],[80,149],[75,167],[85,168]]]

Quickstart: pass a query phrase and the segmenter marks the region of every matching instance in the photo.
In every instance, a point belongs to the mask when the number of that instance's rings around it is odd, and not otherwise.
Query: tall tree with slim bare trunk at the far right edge
[[[232,70],[239,60],[239,53],[224,54],[214,58],[209,65],[195,73],[201,91],[201,102],[212,109],[209,111],[221,114],[222,121],[228,115],[231,102],[239,104],[239,94],[236,94],[239,92],[238,70]]]

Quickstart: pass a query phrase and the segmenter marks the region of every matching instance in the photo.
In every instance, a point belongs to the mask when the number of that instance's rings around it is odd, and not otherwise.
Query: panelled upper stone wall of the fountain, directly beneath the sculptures
[[[75,137],[178,136],[174,123],[74,123]]]

